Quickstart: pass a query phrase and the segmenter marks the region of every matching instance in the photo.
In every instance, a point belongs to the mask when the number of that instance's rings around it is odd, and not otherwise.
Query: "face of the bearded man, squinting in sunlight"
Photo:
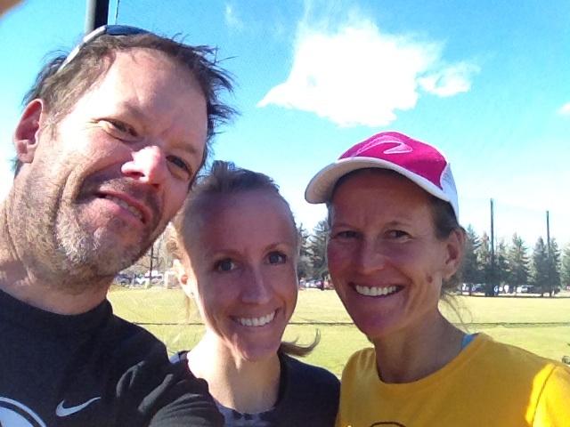
[[[206,100],[190,72],[162,53],[118,52],[69,115],[37,139],[16,190],[33,267],[114,276],[182,205],[205,148]]]

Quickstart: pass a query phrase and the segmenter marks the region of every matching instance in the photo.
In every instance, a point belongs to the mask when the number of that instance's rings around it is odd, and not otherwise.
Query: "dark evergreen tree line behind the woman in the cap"
[[[560,288],[570,286],[570,245],[562,251],[556,238],[550,239],[550,246],[538,238],[531,251],[515,233],[509,242],[499,240],[493,250],[486,232],[479,236],[470,225],[466,231],[460,282],[469,294],[484,292],[494,296],[500,289],[517,294],[524,289],[528,293],[552,296]],[[299,278],[327,278],[327,222],[318,222],[312,232],[301,224],[297,232],[301,244]]]

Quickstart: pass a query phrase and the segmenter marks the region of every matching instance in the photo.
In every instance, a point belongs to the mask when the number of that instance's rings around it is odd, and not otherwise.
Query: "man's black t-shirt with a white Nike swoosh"
[[[221,426],[208,384],[105,301],[39,310],[0,291],[0,425]]]

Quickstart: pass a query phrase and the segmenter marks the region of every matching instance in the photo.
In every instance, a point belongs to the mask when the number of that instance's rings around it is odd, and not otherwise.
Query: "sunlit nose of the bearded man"
[[[134,180],[159,188],[167,178],[167,158],[156,145],[133,151],[133,158],[121,167],[121,172]]]

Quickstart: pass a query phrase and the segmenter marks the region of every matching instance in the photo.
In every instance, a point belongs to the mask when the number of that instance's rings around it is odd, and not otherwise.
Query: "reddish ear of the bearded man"
[[[31,101],[21,113],[13,141],[16,156],[22,163],[31,163],[34,160],[43,114],[44,102],[42,100]]]

